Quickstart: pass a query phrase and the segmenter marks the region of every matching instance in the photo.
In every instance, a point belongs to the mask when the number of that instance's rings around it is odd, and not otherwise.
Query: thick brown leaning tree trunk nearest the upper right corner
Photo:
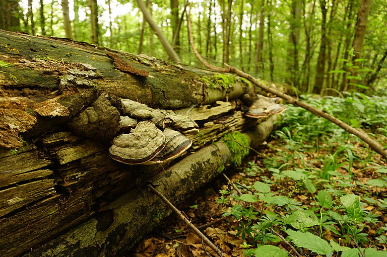
[[[353,56],[353,64],[355,66],[360,66],[360,61],[355,61],[355,60],[361,58],[362,56],[365,29],[367,28],[368,14],[369,14],[369,9],[371,8],[371,1],[372,0],[362,0],[358,15],[357,15],[355,36],[353,38],[353,43],[352,43],[352,47],[355,54]],[[357,75],[356,69],[352,69],[352,75],[353,76]],[[359,83],[359,81],[356,79],[351,79],[351,83],[352,85],[350,88],[355,89],[355,86],[353,84]]]

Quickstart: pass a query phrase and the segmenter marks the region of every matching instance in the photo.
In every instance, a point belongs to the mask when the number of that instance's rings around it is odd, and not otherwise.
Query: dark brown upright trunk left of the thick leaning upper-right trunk
[[[325,75],[325,62],[326,62],[326,48],[327,48],[327,2],[326,0],[320,1],[321,9],[321,41],[320,51],[318,52],[316,76],[314,79],[313,93],[319,94],[322,86],[324,85]]]

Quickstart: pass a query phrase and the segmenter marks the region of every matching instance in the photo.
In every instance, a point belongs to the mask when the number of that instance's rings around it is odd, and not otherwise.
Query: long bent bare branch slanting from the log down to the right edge
[[[228,64],[225,64],[227,67],[225,68],[220,68],[220,67],[217,67],[217,66],[214,66],[208,62],[206,62],[203,57],[199,54],[198,50],[195,48],[195,44],[193,44],[193,37],[192,37],[192,29],[191,29],[191,20],[190,20],[190,14],[187,15],[187,24],[188,24],[188,34],[189,34],[189,43],[192,47],[192,50],[193,52],[195,52],[195,55],[196,57],[198,57],[198,59],[208,68],[214,70],[214,71],[218,71],[218,72],[232,72],[232,73],[235,73],[237,74],[238,76],[240,77],[243,77],[243,78],[246,78],[247,80],[251,81],[253,84],[255,84],[257,87],[269,92],[269,93],[272,93],[282,99],[285,99],[286,102],[290,103],[290,104],[293,104],[295,106],[299,106],[299,107],[302,107],[304,108],[305,110],[319,116],[319,117],[323,117],[323,118],[326,118],[327,120],[335,123],[336,125],[338,125],[339,127],[343,128],[344,130],[348,131],[349,133],[359,137],[361,140],[363,140],[364,142],[366,142],[374,151],[376,151],[377,153],[380,153],[384,158],[387,158],[387,151],[383,149],[383,146],[381,146],[378,142],[376,142],[375,140],[371,139],[366,133],[354,128],[354,127],[351,127],[350,125],[344,123],[343,121],[339,120],[338,118],[324,112],[324,111],[321,111],[309,104],[306,104],[304,102],[301,102],[297,99],[294,99],[292,98],[291,96],[288,96],[274,88],[270,88],[268,87],[268,85],[260,80],[260,79],[257,79],[253,76],[251,76],[250,74],[247,74],[239,69],[237,69],[236,67],[232,67]]]

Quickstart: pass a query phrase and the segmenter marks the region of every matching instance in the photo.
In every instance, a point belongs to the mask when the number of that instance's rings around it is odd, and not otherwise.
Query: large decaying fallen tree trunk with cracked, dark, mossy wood
[[[224,134],[244,132],[249,147],[273,130],[276,116],[243,116],[236,99],[248,83],[231,74],[71,40],[0,31],[0,41],[1,256],[119,254],[170,213],[149,181],[179,202],[230,165]],[[66,126],[101,93],[188,115],[200,133],[169,164],[116,162],[109,142]]]

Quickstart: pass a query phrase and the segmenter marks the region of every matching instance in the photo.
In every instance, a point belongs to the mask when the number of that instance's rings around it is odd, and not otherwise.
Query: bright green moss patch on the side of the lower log
[[[229,132],[223,136],[222,140],[230,149],[230,163],[234,166],[240,166],[242,159],[248,154],[249,142],[247,136],[240,132]]]

